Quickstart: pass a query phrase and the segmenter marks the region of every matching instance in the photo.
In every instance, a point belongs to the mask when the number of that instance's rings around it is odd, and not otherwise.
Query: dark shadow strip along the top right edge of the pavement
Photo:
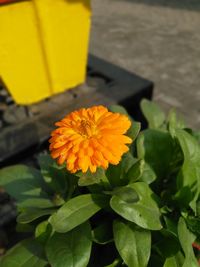
[[[121,0],[120,0],[121,1]],[[124,1],[124,0],[123,0]],[[125,0],[133,4],[146,4],[150,6],[163,6],[190,11],[200,11],[200,0]]]

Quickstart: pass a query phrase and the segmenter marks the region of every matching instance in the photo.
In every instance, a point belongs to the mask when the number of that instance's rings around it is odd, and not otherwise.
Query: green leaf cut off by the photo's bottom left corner
[[[43,247],[34,240],[24,240],[11,248],[1,259],[1,267],[44,267]]]

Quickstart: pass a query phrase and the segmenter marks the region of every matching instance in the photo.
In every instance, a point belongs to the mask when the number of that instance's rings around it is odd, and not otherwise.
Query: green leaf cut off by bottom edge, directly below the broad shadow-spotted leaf
[[[146,267],[151,252],[151,232],[114,221],[114,240],[117,250],[129,267]]]

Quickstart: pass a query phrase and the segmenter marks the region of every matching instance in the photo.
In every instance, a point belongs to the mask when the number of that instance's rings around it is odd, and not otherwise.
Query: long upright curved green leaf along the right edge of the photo
[[[196,210],[200,195],[200,146],[196,139],[184,130],[177,130],[176,137],[184,154],[184,162],[177,178],[179,192],[176,198]]]

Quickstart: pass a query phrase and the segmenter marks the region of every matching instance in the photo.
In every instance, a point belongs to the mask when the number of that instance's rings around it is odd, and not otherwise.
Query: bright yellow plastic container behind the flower
[[[89,0],[1,5],[0,79],[18,104],[31,104],[85,80]]]

